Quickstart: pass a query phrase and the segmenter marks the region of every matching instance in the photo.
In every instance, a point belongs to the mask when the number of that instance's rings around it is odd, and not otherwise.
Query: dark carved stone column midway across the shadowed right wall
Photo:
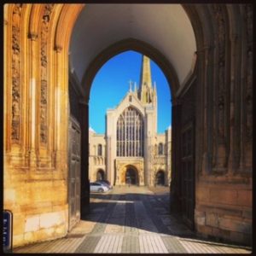
[[[228,149],[229,149],[229,51],[226,16],[224,6],[212,5],[213,15],[216,19],[215,63],[214,63],[214,171],[224,174],[227,171]]]

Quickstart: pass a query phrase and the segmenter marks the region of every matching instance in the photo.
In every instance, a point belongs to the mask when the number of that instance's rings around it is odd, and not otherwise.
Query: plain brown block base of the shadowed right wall
[[[205,237],[252,243],[252,181],[230,183],[212,177],[196,188],[195,225]]]

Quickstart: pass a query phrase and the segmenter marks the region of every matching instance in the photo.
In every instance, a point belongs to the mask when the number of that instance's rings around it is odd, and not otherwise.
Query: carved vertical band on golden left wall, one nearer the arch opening
[[[40,100],[40,142],[47,143],[47,91],[48,91],[48,59],[47,44],[49,37],[49,20],[54,4],[44,6],[41,30],[41,100]]]

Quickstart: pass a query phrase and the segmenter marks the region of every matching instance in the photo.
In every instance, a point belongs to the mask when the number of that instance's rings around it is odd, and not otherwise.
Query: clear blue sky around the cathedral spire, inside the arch
[[[115,108],[130,88],[129,81],[140,82],[142,54],[125,51],[115,55],[96,73],[90,89],[89,124],[96,133],[105,133],[105,114]],[[156,83],[158,102],[158,133],[172,124],[171,91],[164,73],[150,61],[152,82]],[[132,88],[133,90],[133,88]]]

